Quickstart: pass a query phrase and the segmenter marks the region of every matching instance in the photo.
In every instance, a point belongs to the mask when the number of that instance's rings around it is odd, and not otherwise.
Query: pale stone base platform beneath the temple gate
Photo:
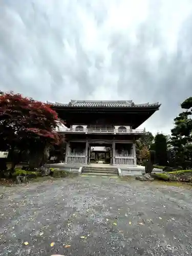
[[[92,169],[97,168],[105,168],[107,169],[118,169],[119,176],[138,176],[142,175],[145,172],[145,167],[141,165],[134,165],[134,166],[125,166],[125,165],[111,165],[111,164],[68,164],[68,163],[52,163],[46,164],[45,167],[50,168],[57,168],[61,170],[67,170],[71,173],[78,173],[81,174],[83,170],[83,166],[90,166]],[[162,169],[153,169],[153,173],[161,173]]]

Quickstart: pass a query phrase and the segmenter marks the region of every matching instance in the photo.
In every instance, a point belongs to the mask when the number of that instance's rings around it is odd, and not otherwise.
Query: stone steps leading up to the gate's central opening
[[[90,175],[119,175],[117,167],[83,166],[82,174]]]

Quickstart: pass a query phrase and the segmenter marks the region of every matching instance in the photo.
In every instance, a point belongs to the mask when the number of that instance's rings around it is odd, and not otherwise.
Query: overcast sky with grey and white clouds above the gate
[[[169,133],[192,96],[191,0],[0,0],[0,90],[41,101],[162,103]]]

